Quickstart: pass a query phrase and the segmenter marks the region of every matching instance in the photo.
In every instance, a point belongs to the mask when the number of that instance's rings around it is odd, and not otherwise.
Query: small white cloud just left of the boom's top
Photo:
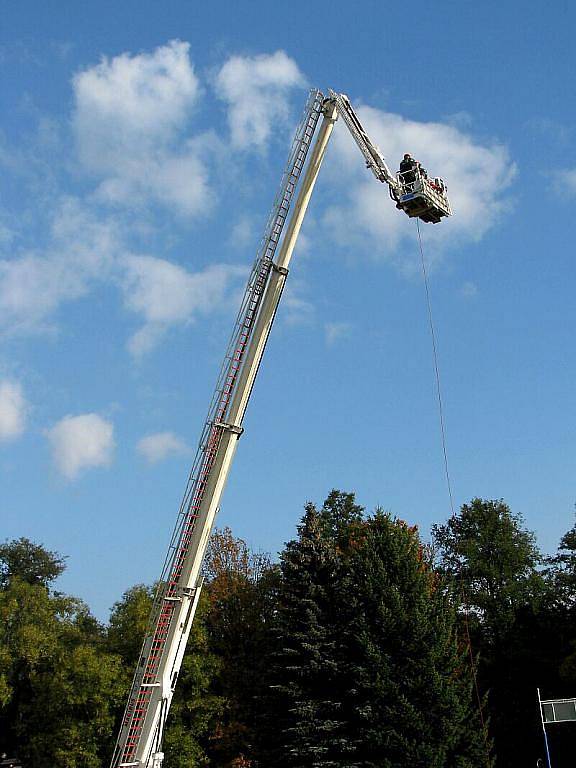
[[[216,75],[218,96],[228,104],[228,124],[234,147],[262,149],[272,126],[289,116],[288,94],[306,80],[284,51],[232,56]]]

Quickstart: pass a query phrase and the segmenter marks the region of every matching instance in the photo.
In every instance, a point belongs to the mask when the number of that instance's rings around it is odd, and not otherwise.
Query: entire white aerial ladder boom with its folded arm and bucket
[[[280,302],[290,259],[334,124],[341,117],[374,176],[409,216],[440,221],[451,214],[443,191],[421,180],[407,189],[389,170],[343,94],[312,90],[296,131],[279,192],[236,318],[137,663],[111,768],[161,768],[162,740],[202,589],[202,562],[243,432],[243,420]],[[318,125],[320,126],[318,127]],[[316,138],[314,140],[314,136]],[[419,210],[420,213],[415,213]]]

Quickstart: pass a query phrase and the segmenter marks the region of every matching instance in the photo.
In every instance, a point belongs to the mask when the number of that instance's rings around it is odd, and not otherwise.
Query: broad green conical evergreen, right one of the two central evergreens
[[[456,608],[416,528],[377,511],[350,557],[341,594],[353,764],[488,765]]]

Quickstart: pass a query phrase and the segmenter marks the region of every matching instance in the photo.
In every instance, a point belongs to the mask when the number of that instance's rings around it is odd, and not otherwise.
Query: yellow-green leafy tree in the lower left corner
[[[10,574],[0,590],[0,751],[29,768],[102,764],[124,688],[120,659],[96,628],[81,601]]]

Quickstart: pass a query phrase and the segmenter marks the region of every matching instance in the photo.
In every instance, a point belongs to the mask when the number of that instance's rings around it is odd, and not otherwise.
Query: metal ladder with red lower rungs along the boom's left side
[[[178,581],[184,562],[189,555],[188,548],[198,517],[197,511],[202,502],[206,481],[218,451],[222,430],[228,426],[223,423],[223,420],[241,369],[244,351],[272,268],[274,253],[281,238],[290,202],[321,114],[322,102],[322,94],[319,91],[312,91],[306,105],[304,119],[296,133],[289,163],[283,175],[280,195],[276,198],[273,206],[266,235],[263,238],[259,256],[248,281],[165,560],[151,614],[150,628],[152,632],[147,635],[144,641],[139,668],[134,676],[121,733],[116,745],[113,766],[133,764],[132,760],[142,735],[142,726],[150,703],[152,689],[160,684],[158,680],[160,661],[174,613],[174,601],[179,599],[177,595]],[[125,729],[128,729],[128,732],[122,746],[120,739]]]

